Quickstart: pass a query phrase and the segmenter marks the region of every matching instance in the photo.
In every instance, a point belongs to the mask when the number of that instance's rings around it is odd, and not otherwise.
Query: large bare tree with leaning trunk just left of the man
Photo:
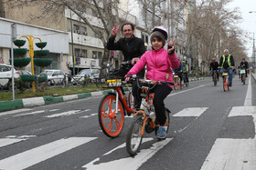
[[[120,25],[125,20],[125,16],[119,14],[119,0],[5,0],[5,3],[16,8],[37,5],[40,10],[36,14],[37,18],[50,15],[56,21],[59,15],[65,15],[65,8],[68,8],[72,14],[78,15],[80,20],[101,39],[104,46],[102,65],[106,65],[108,62],[109,51],[106,49],[106,45],[113,25]],[[93,22],[91,16],[87,15],[88,9],[91,9],[94,18],[97,17]],[[95,22],[98,22],[97,25],[92,24]]]

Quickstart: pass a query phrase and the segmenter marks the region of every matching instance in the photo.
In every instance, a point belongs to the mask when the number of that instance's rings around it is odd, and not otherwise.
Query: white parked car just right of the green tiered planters
[[[48,85],[57,85],[63,82],[65,77],[61,70],[45,70],[39,75],[48,75]]]

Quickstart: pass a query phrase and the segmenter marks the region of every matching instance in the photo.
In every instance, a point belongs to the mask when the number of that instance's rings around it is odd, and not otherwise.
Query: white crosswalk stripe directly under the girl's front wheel
[[[153,138],[145,138],[145,141],[151,141]],[[123,159],[118,159],[110,162],[104,162],[101,164],[95,164],[97,161],[101,161],[100,158],[96,158],[91,161],[87,165],[83,165],[83,168],[87,170],[98,170],[98,169],[122,169],[122,170],[136,170],[141,165],[143,165],[148,159],[150,159],[155,153],[157,153],[160,149],[162,149],[165,145],[167,145],[172,139],[166,138],[165,140],[154,143],[148,149],[142,149],[137,155],[134,157],[125,157]],[[114,150],[125,147],[125,144],[119,145],[117,148],[112,151],[106,153],[105,155],[111,154]]]

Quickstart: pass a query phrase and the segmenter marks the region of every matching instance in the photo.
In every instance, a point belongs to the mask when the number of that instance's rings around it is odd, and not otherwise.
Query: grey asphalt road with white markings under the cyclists
[[[256,84],[249,82],[235,77],[223,92],[221,80],[207,79],[173,91],[165,99],[167,138],[145,135],[134,157],[125,149],[132,117],[117,138],[101,132],[102,96],[0,113],[0,169],[256,169]]]

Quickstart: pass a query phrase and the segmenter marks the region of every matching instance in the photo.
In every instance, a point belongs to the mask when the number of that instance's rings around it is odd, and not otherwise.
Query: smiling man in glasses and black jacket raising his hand
[[[142,38],[138,38],[133,35],[134,33],[134,25],[131,23],[124,23],[121,27],[123,38],[120,38],[117,42],[114,42],[115,37],[120,29],[120,25],[112,28],[112,35],[109,38],[107,43],[108,50],[120,50],[123,53],[123,62],[131,61],[132,65],[134,65],[144,52],[146,51],[144,40]],[[127,68],[127,72],[131,68]],[[127,74],[122,72],[122,76]],[[138,73],[141,77],[144,77],[144,69]]]

